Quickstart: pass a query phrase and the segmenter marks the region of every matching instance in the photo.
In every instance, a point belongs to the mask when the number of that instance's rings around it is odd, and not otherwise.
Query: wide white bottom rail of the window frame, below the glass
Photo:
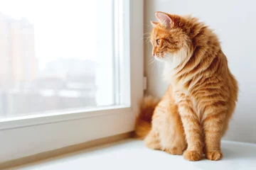
[[[15,123],[16,120],[14,123],[1,123],[0,127],[3,129],[0,130],[2,137],[0,164],[42,152],[132,132],[136,117],[133,109],[131,107],[112,108],[90,113],[52,115],[51,119],[42,117],[17,120],[19,123]],[[50,123],[48,120],[54,120],[54,122]],[[30,123],[31,125],[28,125]],[[6,126],[4,127],[4,125]],[[10,127],[12,125],[14,127]],[[22,128],[15,128],[16,125]]]

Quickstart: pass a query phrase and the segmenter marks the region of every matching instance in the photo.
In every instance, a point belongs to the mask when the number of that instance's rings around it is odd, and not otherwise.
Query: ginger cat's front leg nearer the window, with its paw
[[[183,157],[189,161],[198,161],[203,154],[202,128],[198,116],[193,111],[193,104],[185,94],[177,96],[178,112],[186,135],[188,148]]]

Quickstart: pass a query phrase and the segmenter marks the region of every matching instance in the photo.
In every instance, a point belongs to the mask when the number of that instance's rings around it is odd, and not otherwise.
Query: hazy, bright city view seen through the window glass
[[[114,104],[112,6],[84,2],[0,2],[0,118]]]

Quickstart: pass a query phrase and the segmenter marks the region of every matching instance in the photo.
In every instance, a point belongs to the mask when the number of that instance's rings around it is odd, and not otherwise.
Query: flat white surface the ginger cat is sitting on
[[[224,141],[222,149],[224,158],[218,162],[188,162],[182,156],[147,149],[142,141],[123,140],[14,169],[256,169],[256,144]]]

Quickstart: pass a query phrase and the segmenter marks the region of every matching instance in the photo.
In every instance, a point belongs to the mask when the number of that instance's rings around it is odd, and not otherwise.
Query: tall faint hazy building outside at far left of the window
[[[38,74],[34,28],[26,18],[16,20],[0,13],[0,88],[8,89]]]

